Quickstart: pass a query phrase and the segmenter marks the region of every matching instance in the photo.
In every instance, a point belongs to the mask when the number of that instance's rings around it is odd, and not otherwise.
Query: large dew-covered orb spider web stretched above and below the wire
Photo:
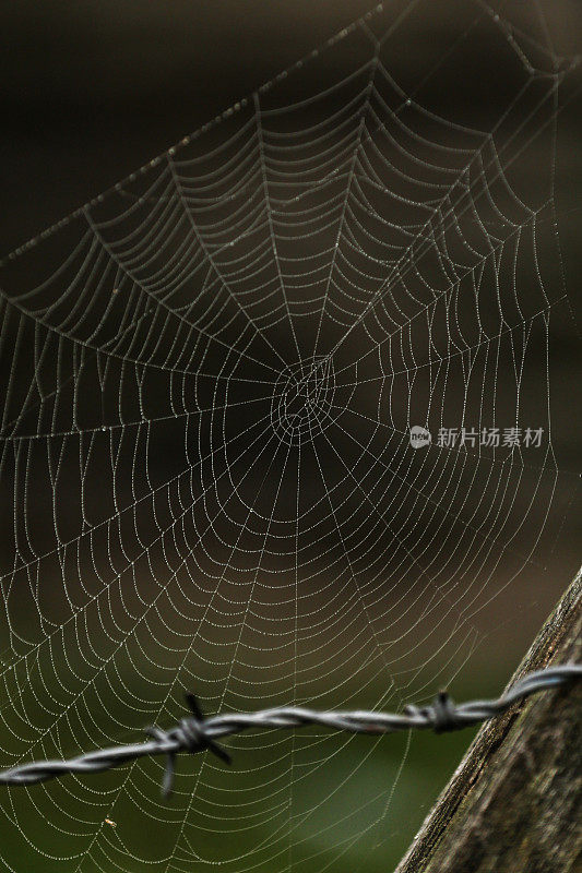
[[[186,690],[421,703],[551,574],[572,64],[463,2],[397,79],[425,14],[378,7],[4,260],[3,766]],[[169,801],[161,760],[3,788],[3,869],[369,870],[414,741],[248,733]]]

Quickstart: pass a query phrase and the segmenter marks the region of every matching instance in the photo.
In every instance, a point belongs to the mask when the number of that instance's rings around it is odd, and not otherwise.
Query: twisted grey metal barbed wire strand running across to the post
[[[230,764],[230,756],[215,741],[221,737],[231,737],[250,729],[301,728],[308,725],[322,725],[332,730],[351,733],[392,733],[397,730],[427,730],[436,733],[462,730],[480,721],[496,718],[507,713],[518,701],[523,701],[538,691],[555,689],[574,680],[582,679],[582,665],[567,663],[548,667],[528,673],[519,680],[501,697],[494,701],[471,701],[455,704],[441,692],[429,706],[405,706],[402,713],[375,711],[331,711],[319,713],[301,707],[261,709],[258,713],[225,713],[204,717],[193,694],[186,698],[192,715],[169,730],[158,727],[146,729],[152,738],[145,743],[118,745],[103,749],[70,761],[41,761],[19,764],[0,772],[0,784],[35,785],[56,779],[66,774],[99,773],[109,770],[129,761],[147,755],[166,755],[166,770],[162,791],[164,797],[171,792],[174,765],[180,752],[212,752],[221,761]]]

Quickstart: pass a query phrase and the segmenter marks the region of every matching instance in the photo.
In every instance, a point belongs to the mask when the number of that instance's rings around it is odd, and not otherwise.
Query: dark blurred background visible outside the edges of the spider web
[[[582,50],[578,0],[524,0],[497,7],[524,28],[533,27],[536,36],[541,34],[537,8],[542,9],[556,52],[571,56]],[[0,256],[194,131],[369,8],[369,0],[4,2],[0,12]],[[430,9],[431,14],[417,23],[414,45],[394,55],[391,72],[399,81],[405,82],[423,63],[428,45],[444,51],[450,43],[455,4],[443,0]],[[484,53],[487,50],[484,45]],[[338,57],[341,52],[334,53],[334,63]],[[480,104],[467,106],[466,112],[475,120],[487,119],[502,88],[502,75],[496,80],[491,72],[491,79],[482,83]],[[436,98],[433,107],[454,118],[460,109],[465,111],[463,103],[474,99],[474,89],[464,91],[460,71],[455,86],[440,98],[441,106],[437,107]],[[580,107],[580,99],[574,99],[560,116],[556,180],[574,314],[580,314],[582,265]],[[563,338],[553,411],[568,424],[560,431],[561,463],[575,471],[580,427],[572,398],[579,392],[580,368],[573,357],[578,354],[573,336],[575,331],[569,331]],[[500,689],[577,570],[579,529],[571,517],[575,489],[569,494],[572,503],[553,553],[551,574],[541,570],[518,583],[515,614],[508,617],[501,610],[498,615],[499,625],[511,632],[492,655],[487,646],[477,649],[472,661],[475,669],[471,675],[461,675],[454,689],[458,696]],[[470,740],[466,733],[440,739],[438,755],[432,738],[413,744],[394,794],[379,869],[397,861]],[[379,757],[382,766],[392,768],[391,779],[401,745],[392,756],[384,743],[383,757]],[[365,769],[361,791],[375,779],[378,782],[378,768]]]

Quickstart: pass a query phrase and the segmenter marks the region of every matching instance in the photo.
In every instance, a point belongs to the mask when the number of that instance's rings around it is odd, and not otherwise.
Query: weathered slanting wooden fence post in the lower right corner
[[[510,684],[581,659],[582,571]],[[582,687],[571,685],[485,725],[395,873],[582,870],[581,703]]]

